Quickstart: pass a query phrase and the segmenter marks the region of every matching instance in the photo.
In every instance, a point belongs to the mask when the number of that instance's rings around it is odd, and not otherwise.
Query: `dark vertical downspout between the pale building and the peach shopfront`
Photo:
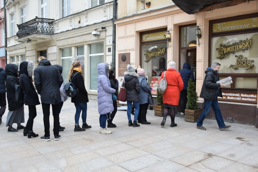
[[[113,36],[112,36],[112,66],[114,70],[114,76],[116,76],[116,25],[115,20],[117,19],[117,1],[113,0]]]

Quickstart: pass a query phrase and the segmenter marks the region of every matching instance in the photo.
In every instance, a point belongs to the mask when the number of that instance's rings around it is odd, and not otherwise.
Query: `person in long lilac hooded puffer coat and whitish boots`
[[[109,67],[108,63],[98,64],[98,113],[99,124],[101,134],[111,134],[112,131],[108,131],[106,128],[107,118],[110,119],[110,112],[114,110],[112,93],[116,90],[111,88],[109,81]]]

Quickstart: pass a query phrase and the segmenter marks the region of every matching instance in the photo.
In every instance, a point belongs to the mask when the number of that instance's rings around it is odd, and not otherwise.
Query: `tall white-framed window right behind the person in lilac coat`
[[[99,63],[104,62],[104,44],[92,44],[90,45],[90,89],[97,90],[97,66]]]

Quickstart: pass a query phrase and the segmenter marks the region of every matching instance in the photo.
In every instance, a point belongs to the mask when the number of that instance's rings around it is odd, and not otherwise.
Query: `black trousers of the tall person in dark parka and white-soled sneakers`
[[[45,127],[45,137],[50,135],[50,125],[49,125],[49,115],[50,115],[50,104],[41,103],[42,110],[43,110],[43,121]],[[52,112],[54,117],[54,135],[59,135],[59,103],[58,104],[51,104],[52,105]]]

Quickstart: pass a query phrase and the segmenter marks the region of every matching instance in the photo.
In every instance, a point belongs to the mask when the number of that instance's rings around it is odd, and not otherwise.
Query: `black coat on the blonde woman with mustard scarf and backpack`
[[[74,75],[75,73],[77,73],[77,74]],[[77,70],[73,70],[71,80],[72,80],[72,83],[74,83],[74,88],[78,90],[76,96],[72,97],[71,102],[72,103],[89,102],[88,92],[85,88],[82,74],[80,72],[78,72]]]

